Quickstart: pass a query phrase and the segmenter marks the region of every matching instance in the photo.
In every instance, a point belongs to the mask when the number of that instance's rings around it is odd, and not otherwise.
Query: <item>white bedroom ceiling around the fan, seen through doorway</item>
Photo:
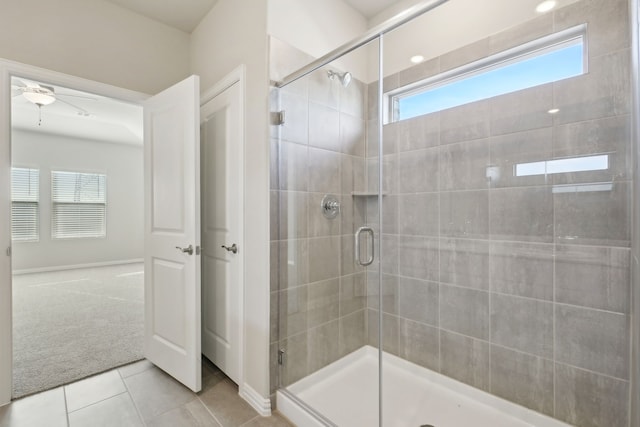
[[[52,88],[56,101],[41,107],[39,115],[38,107],[17,89],[25,82]],[[12,77],[11,87],[12,129],[142,145],[142,107],[139,105],[16,77]]]

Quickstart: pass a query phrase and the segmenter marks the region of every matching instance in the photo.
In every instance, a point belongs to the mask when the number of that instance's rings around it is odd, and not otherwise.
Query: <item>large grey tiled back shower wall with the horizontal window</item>
[[[575,3],[384,84],[390,90],[585,22],[587,74],[384,126],[383,348],[572,425],[622,427],[630,379],[627,1]],[[373,83],[371,127],[375,93]],[[514,174],[516,164],[590,154],[608,155],[609,168]],[[370,201],[369,220],[376,210]],[[377,274],[367,274],[368,343],[376,345]]]

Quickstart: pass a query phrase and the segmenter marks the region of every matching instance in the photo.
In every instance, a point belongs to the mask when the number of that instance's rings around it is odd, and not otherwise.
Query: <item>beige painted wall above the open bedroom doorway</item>
[[[189,75],[189,34],[104,0],[2,0],[0,58],[154,94]]]

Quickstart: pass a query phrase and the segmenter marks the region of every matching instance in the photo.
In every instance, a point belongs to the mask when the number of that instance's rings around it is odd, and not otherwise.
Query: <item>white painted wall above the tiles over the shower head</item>
[[[367,20],[342,0],[269,0],[269,35],[314,58],[361,36]],[[360,49],[336,66],[365,81],[367,52]]]

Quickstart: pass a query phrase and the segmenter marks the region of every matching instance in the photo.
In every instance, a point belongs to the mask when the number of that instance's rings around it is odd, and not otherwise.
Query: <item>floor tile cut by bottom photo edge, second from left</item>
[[[129,393],[122,393],[69,414],[71,427],[143,427]]]

